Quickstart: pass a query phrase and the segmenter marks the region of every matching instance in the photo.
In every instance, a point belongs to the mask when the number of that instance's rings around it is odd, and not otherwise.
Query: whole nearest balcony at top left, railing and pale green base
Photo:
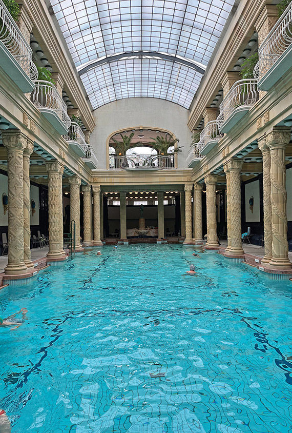
[[[32,50],[0,0],[0,65],[24,93],[32,92],[37,69]]]

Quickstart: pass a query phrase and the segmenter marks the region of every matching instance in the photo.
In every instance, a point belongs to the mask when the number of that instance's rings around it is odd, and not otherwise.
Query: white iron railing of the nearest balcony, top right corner
[[[292,3],[280,16],[259,47],[259,61],[254,77],[260,80],[292,43]]]

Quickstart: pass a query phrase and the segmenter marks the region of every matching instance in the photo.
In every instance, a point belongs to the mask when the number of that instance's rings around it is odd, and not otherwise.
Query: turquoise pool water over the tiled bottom
[[[0,291],[12,433],[292,431],[290,282],[192,247],[103,247]],[[196,277],[184,274],[194,263]]]

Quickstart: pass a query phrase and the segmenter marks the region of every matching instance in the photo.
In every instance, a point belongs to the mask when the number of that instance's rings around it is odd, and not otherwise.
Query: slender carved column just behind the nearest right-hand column
[[[270,203],[270,151],[266,145],[265,135],[258,139],[258,146],[263,155],[263,201],[264,201],[264,240],[265,255],[262,263],[272,260],[272,205]]]

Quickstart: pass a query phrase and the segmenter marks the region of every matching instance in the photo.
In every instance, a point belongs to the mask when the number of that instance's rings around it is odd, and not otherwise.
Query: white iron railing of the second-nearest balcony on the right
[[[251,108],[257,102],[259,98],[257,82],[254,78],[251,78],[234,83],[219,106],[220,114],[217,117],[219,129],[237,108],[244,106]]]

